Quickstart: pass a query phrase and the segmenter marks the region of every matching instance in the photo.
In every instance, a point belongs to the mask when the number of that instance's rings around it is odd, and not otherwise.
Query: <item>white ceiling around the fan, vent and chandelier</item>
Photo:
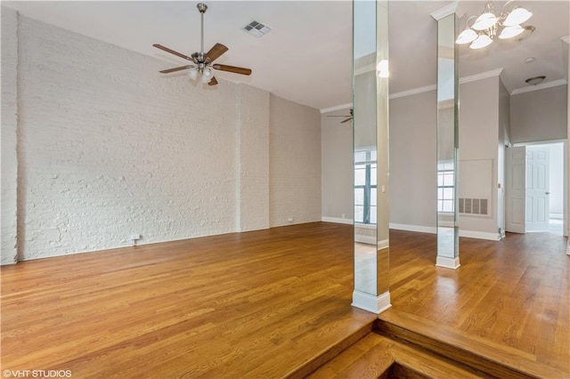
[[[190,55],[199,51],[197,1],[6,2],[33,19],[67,28],[164,60],[169,69],[186,64],[152,44]],[[205,50],[215,43],[229,51],[216,63],[253,69],[251,77],[216,72],[218,79],[252,85],[316,109],[352,101],[351,1],[209,1],[205,15]],[[436,84],[436,21],[430,16],[450,1],[390,1],[390,92]],[[494,2],[501,10],[505,2]],[[570,2],[523,1],[534,13],[526,25],[536,31],[520,42],[497,41],[483,51],[460,47],[460,76],[503,68],[509,90],[524,88],[527,77],[545,82],[567,78],[566,45]],[[460,1],[465,19],[485,2]],[[243,27],[256,20],[273,30],[257,38]],[[567,46],[566,46],[567,48]],[[527,57],[535,57],[525,64]],[[162,75],[150,72],[148,75]],[[171,80],[186,80],[183,73]]]

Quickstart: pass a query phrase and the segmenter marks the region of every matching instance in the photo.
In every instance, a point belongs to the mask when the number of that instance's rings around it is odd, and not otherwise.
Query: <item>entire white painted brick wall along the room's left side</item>
[[[162,76],[165,61],[37,20],[19,28],[21,260],[128,246],[132,233],[154,243],[269,228],[274,201],[295,222],[320,220],[318,110],[270,105],[270,93],[222,78],[211,88]],[[15,36],[3,22],[3,49]],[[3,154],[11,88],[3,78]],[[280,154],[291,147],[297,160]],[[270,176],[293,177],[297,192],[270,198]],[[4,203],[15,185],[4,166],[2,184]],[[3,220],[3,244],[4,233]]]

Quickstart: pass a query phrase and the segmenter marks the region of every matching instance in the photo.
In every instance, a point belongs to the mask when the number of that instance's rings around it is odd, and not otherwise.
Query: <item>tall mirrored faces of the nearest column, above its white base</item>
[[[388,290],[387,237],[377,227],[387,218],[377,186],[387,188],[388,93],[374,69],[387,60],[387,1],[354,1],[353,17],[354,292],[377,296]]]

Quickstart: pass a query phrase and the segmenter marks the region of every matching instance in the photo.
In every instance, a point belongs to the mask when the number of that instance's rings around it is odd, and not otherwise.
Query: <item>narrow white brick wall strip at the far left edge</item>
[[[10,8],[2,12],[2,244],[1,264],[17,262],[17,65],[18,14]]]

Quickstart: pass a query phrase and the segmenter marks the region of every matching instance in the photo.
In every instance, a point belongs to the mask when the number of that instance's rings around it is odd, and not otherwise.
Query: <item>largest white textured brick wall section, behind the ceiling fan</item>
[[[237,85],[20,18],[21,259],[235,230]]]

